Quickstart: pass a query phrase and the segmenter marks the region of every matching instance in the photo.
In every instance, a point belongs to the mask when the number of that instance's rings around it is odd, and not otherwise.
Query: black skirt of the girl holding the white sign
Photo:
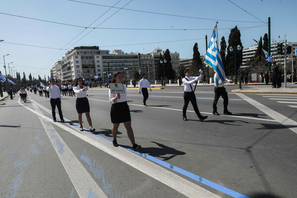
[[[130,109],[127,101],[113,103],[110,108],[110,118],[112,123],[131,121]]]

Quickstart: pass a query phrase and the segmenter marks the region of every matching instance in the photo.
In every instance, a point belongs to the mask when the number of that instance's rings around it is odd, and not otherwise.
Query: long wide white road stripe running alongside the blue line
[[[25,106],[21,102],[19,102],[19,103],[21,105]],[[39,106],[42,106],[42,105],[39,104]],[[141,157],[140,155],[132,154],[129,150],[127,150],[125,148],[121,148],[121,147],[115,148],[112,146],[112,144],[110,144],[107,141],[104,141],[104,140],[100,139],[99,137],[94,136],[90,133],[87,133],[87,132],[79,133],[76,130],[69,128],[68,127],[69,125],[65,125],[60,122],[53,122],[53,120],[51,118],[44,116],[39,111],[34,111],[27,106],[25,106],[25,107],[28,110],[37,114],[39,117],[41,117],[43,119],[47,119],[48,123],[50,122],[51,124],[54,124],[54,125],[62,128],[63,130],[84,140],[85,142],[93,145],[94,147],[99,148],[100,150],[106,152],[107,154],[110,154],[111,156],[125,162],[126,164],[128,164],[128,165],[136,168],[137,170],[147,174],[148,176],[162,182],[163,184],[171,187],[172,189],[175,189],[176,191],[180,192],[181,194],[183,194],[189,198],[220,198],[219,196],[217,196],[217,195],[203,189],[202,187],[174,174],[173,172],[170,172],[169,170],[164,169],[161,166],[159,166],[151,161],[148,161],[147,159],[145,159],[144,157]],[[46,107],[43,107],[43,109],[46,109]],[[96,139],[96,140],[94,140],[94,139]],[[69,177],[70,177],[70,175],[69,175]],[[70,179],[72,179],[72,178],[70,177]],[[85,182],[80,182],[80,183],[85,183]],[[86,184],[84,184],[84,185],[88,185],[88,183],[86,182]],[[84,197],[86,197],[86,196],[84,196]]]

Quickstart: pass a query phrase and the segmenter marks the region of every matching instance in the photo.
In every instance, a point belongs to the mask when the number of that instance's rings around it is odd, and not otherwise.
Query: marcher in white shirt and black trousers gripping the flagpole
[[[199,118],[200,121],[205,120],[208,116],[202,116],[199,112],[196,96],[193,91],[193,83],[197,82],[199,79],[202,78],[202,70],[199,70],[200,76],[192,77],[190,69],[185,70],[185,78],[183,78],[183,84],[184,84],[184,107],[183,107],[183,120],[188,121],[187,119],[187,108],[189,105],[189,102],[191,101],[194,110]]]

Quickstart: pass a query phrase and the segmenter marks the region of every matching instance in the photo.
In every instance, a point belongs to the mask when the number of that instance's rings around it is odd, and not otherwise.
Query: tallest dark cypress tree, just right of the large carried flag
[[[235,74],[235,72],[234,72],[235,71],[234,53],[236,53],[236,68],[237,69],[243,62],[243,51],[240,50],[239,52],[234,52],[236,50],[235,48],[237,48],[237,46],[240,46],[243,49],[243,44],[241,43],[240,37],[241,37],[240,30],[237,28],[237,26],[235,26],[235,28],[230,30],[230,35],[229,35],[229,39],[228,39],[227,56],[226,56],[226,60],[227,60],[226,64],[227,65],[226,66],[224,65],[226,76]],[[233,51],[230,51],[230,49],[229,49],[231,46],[234,49]]]

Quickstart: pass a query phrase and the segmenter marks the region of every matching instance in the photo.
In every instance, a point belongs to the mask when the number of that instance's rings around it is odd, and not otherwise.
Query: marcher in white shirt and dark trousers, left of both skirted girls
[[[55,81],[53,77],[49,79],[49,82],[50,82],[50,85],[47,88],[47,91],[49,92],[49,97],[50,97],[52,119],[54,122],[56,122],[55,107],[57,106],[61,122],[65,122],[65,120],[63,119],[63,113],[61,109],[62,100],[61,100],[60,89],[58,86],[55,85]]]

